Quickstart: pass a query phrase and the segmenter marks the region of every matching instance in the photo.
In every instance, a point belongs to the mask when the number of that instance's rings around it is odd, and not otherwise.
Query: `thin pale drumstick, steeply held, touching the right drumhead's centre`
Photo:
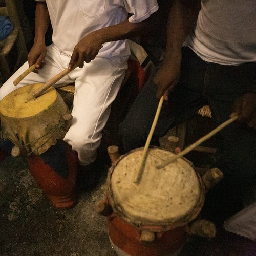
[[[137,176],[136,181],[134,182],[137,185],[140,183],[143,172],[144,172],[144,165],[145,165],[145,161],[146,161],[146,157],[147,157],[147,150],[148,150],[148,147],[150,146],[150,141],[151,141],[151,138],[153,136],[153,133],[154,133],[154,130],[155,130],[155,127],[156,127],[156,124],[157,124],[157,120],[158,120],[158,117],[159,117],[159,114],[160,114],[160,111],[161,111],[161,108],[162,108],[162,104],[163,104],[163,99],[164,99],[164,97],[162,96],[159,103],[158,103],[156,115],[155,115],[153,124],[151,126],[150,133],[148,134],[147,139],[146,139],[146,144],[144,146],[142,157],[141,157],[140,163],[139,163],[138,176]]]

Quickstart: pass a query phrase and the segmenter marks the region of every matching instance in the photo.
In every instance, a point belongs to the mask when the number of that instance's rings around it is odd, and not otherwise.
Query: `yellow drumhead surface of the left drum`
[[[6,95],[0,103],[1,113],[9,117],[23,118],[47,110],[56,99],[57,92],[53,88],[31,100],[32,92],[42,85],[43,83],[29,84]]]

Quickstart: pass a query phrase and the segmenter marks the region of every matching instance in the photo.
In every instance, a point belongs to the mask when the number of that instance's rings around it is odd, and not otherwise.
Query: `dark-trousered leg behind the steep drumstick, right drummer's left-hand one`
[[[199,71],[196,70],[199,67]],[[151,144],[158,144],[158,138],[167,131],[194,115],[205,104],[201,97],[205,62],[189,49],[183,49],[181,79],[175,90],[170,93],[169,101],[164,102]],[[196,77],[195,77],[195,74]],[[119,135],[124,151],[142,147],[145,144],[154,120],[158,100],[153,84],[155,72],[147,80],[125,120],[119,126]]]

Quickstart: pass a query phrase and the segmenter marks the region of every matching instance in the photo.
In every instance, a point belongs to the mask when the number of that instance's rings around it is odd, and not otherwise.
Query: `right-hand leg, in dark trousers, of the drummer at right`
[[[255,67],[252,63],[240,66],[208,64],[204,93],[217,125],[229,119],[234,101],[252,84]],[[245,125],[232,123],[221,130],[219,136],[222,143],[218,167],[224,178],[207,194],[204,214],[222,224],[243,207],[241,198],[255,185],[256,132]]]

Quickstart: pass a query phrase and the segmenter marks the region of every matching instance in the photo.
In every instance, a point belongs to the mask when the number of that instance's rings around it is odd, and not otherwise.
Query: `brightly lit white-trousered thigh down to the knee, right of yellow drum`
[[[108,59],[95,58],[76,70],[72,123],[65,140],[78,138],[81,144],[100,139],[100,131],[109,118],[111,103],[120,89],[126,63],[119,67]]]

